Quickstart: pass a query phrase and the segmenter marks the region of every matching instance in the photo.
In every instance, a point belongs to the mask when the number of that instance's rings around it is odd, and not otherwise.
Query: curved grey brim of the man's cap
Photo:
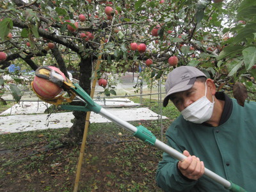
[[[163,100],[163,106],[166,107],[168,105],[170,95],[172,95],[173,93],[184,92],[186,90],[189,90],[194,85],[195,81],[196,81],[196,77],[192,79],[188,79],[187,81],[183,81],[173,86],[169,90],[169,92],[166,93],[166,96],[164,97],[164,100]]]

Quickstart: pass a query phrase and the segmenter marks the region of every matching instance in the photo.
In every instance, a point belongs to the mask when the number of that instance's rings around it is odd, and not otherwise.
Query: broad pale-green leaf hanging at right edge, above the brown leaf
[[[256,47],[247,47],[242,52],[245,68],[246,70],[250,70],[256,62]]]

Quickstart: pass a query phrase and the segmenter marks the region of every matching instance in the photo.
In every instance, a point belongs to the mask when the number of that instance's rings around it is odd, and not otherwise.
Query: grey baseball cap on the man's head
[[[166,97],[163,106],[166,107],[169,97],[173,93],[189,90],[196,81],[196,77],[206,77],[205,74],[196,67],[180,66],[173,69],[167,77],[165,83]]]

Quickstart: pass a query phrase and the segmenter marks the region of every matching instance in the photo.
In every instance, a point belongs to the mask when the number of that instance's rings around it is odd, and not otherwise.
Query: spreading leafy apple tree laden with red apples
[[[141,68],[154,83],[174,67],[190,65],[214,79],[219,90],[246,95],[245,84],[252,99],[255,6],[254,0],[3,0],[0,52],[6,58],[0,58],[0,67],[56,64],[65,76],[67,68],[76,68],[80,86],[90,93],[101,54],[97,73],[110,95],[115,90],[108,74]],[[79,140],[84,113],[74,116],[68,136]]]

